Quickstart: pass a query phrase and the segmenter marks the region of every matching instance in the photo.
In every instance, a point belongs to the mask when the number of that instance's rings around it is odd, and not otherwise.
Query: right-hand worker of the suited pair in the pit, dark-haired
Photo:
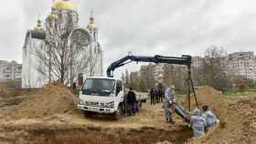
[[[219,119],[211,112],[208,108],[208,105],[204,105],[203,109],[203,117],[206,118],[206,132],[219,123]]]

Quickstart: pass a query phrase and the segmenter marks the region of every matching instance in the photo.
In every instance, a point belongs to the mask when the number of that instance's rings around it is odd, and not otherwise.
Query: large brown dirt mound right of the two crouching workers
[[[256,98],[226,98],[212,87],[199,88],[197,98],[200,106],[207,104],[217,114],[220,123],[205,137],[190,143],[252,144],[255,142]]]

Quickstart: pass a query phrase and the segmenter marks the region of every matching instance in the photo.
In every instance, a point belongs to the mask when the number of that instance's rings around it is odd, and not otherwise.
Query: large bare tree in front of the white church
[[[90,35],[85,31],[74,31],[72,18],[63,18],[66,23],[56,20],[46,23],[46,46],[37,49],[36,56],[40,63],[37,69],[48,76],[49,82],[58,80],[66,85],[85,70],[93,73],[97,60],[91,57]]]

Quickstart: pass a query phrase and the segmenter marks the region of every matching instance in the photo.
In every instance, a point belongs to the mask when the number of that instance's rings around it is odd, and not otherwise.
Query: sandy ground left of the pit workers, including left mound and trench
[[[18,97],[17,97],[18,98]],[[116,121],[104,116],[84,118],[78,99],[62,86],[47,86],[18,103],[3,100],[0,108],[0,143],[184,143],[192,137],[182,119],[165,122],[162,104],[145,104],[133,117]],[[7,103],[7,105],[6,105]]]

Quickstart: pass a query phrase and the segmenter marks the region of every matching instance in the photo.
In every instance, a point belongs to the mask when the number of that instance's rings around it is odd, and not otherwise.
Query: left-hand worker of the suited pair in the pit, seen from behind
[[[199,138],[205,135],[205,127],[207,125],[206,118],[202,116],[200,109],[196,108],[193,111],[193,116],[188,118],[190,120],[190,126],[193,129],[194,137]]]

